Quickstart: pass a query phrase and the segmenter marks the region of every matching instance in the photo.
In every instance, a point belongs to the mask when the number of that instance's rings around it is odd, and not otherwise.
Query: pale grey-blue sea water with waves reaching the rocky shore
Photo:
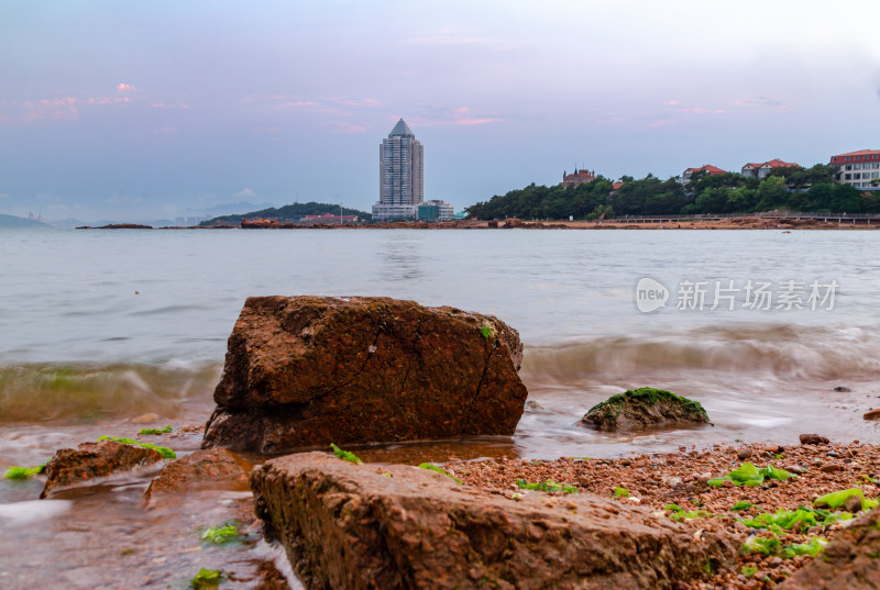
[[[513,437],[355,449],[367,460],[617,457],[793,445],[801,433],[876,443],[862,414],[880,408],[879,241],[855,230],[0,230],[0,471],[135,436],[143,414],[176,432],[204,424],[244,300],[270,294],[393,297],[519,331],[529,400]],[[639,387],[701,402],[712,425],[581,424]],[[200,442],[163,441],[182,454]],[[255,532],[234,547],[198,538],[248,491],[151,508],[151,475],[53,500],[37,500],[38,478],[0,479],[0,588],[183,589],[230,563],[223,588],[252,588],[248,560],[277,547]]]

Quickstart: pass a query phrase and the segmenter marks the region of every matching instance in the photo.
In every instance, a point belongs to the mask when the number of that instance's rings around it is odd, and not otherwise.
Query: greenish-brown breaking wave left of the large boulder
[[[189,402],[209,401],[221,371],[217,363],[0,366],[0,423],[174,418]]]

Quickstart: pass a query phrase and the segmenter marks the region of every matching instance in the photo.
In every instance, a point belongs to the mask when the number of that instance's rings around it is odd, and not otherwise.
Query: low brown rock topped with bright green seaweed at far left
[[[46,464],[46,486],[40,498],[82,486],[119,471],[129,471],[162,460],[152,448],[142,448],[113,441],[82,443],[78,448],[59,448]]]

